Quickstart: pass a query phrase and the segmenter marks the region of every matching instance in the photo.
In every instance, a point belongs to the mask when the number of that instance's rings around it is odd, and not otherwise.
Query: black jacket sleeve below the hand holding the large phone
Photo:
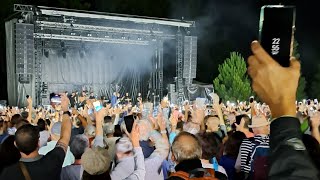
[[[297,118],[281,117],[271,123],[269,180],[318,179],[318,170],[302,142]]]

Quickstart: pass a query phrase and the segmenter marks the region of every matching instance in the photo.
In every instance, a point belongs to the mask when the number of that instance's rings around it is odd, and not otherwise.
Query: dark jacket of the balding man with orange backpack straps
[[[175,167],[175,170],[176,172],[183,171],[183,172],[189,173],[190,171],[195,170],[197,168],[202,168],[200,159],[182,161]],[[227,179],[227,177],[220,172],[215,172],[215,176],[220,180]],[[183,179],[180,177],[169,177],[168,180],[183,180]]]

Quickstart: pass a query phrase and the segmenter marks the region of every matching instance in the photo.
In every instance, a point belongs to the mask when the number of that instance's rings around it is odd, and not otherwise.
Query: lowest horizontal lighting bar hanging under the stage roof
[[[44,34],[44,33],[34,33],[34,38],[69,40],[69,41],[104,42],[104,43],[115,43],[115,44],[149,45],[148,41],[127,40],[127,39],[109,39],[109,38],[70,36],[70,35],[59,35],[59,34]]]

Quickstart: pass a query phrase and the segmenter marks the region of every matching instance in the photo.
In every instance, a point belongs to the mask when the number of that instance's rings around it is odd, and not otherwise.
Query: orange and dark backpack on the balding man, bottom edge
[[[213,169],[197,168],[190,171],[189,173],[178,171],[172,173],[170,177],[179,177],[184,180],[218,180],[215,177],[215,172]]]

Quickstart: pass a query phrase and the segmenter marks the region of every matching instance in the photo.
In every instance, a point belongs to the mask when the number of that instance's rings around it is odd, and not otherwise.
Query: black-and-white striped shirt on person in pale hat
[[[256,135],[254,136],[254,140],[259,144],[262,142],[269,144],[269,136]],[[254,142],[251,142],[249,139],[244,139],[241,143],[238,158],[239,156],[241,158],[240,160],[241,160],[242,172],[250,173],[251,155],[253,152],[253,146],[254,146]]]

